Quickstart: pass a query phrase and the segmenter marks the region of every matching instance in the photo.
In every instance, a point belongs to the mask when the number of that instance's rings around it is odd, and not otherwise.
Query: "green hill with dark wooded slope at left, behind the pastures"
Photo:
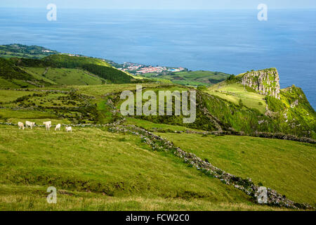
[[[53,55],[43,59],[0,58],[1,88],[33,88],[54,84],[107,84],[146,82],[110,67],[103,60]]]

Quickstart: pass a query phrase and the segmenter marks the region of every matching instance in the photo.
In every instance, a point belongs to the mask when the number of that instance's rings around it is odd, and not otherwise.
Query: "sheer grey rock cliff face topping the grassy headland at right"
[[[280,98],[279,74],[275,68],[246,72],[242,76],[242,84],[258,91],[259,94]]]

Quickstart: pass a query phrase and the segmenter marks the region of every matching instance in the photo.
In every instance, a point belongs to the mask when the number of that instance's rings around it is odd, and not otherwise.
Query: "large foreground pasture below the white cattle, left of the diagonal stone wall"
[[[137,136],[93,128],[0,131],[1,210],[275,210],[169,153],[152,152]],[[51,206],[43,198],[48,186],[74,193]]]

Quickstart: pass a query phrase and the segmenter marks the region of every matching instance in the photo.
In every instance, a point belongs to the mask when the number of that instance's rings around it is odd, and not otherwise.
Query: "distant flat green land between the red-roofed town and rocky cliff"
[[[205,70],[185,72],[164,72],[162,74],[145,74],[145,77],[158,80],[170,80],[173,84],[187,86],[210,86],[222,82],[230,75],[224,72],[212,72]]]

